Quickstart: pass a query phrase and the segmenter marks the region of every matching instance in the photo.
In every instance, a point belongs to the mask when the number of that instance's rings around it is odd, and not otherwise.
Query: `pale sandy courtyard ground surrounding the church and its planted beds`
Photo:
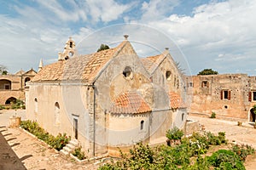
[[[16,115],[25,119],[25,111],[16,111]],[[99,161],[79,164],[71,159],[64,159],[57,151],[49,149],[48,145],[34,139],[20,128],[9,128],[9,116],[15,116],[15,111],[0,111],[0,169],[96,169],[98,167]],[[205,126],[206,131],[226,132],[230,142],[235,140],[237,143],[250,144],[256,148],[256,129],[248,122],[243,122],[242,126],[238,127],[237,122],[219,119],[198,116],[189,116],[189,119],[199,121]],[[255,165],[255,158],[245,163],[247,169],[254,169]]]

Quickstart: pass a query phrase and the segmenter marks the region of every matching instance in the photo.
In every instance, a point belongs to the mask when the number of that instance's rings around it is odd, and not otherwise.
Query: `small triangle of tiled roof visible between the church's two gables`
[[[154,68],[160,64],[160,61],[163,57],[163,54],[159,54],[155,56],[142,58],[141,61],[143,62],[143,65],[148,70],[148,72],[152,73],[154,71]]]

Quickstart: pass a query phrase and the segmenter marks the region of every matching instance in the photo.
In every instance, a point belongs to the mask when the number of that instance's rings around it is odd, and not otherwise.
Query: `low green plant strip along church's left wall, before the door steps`
[[[20,127],[24,128],[29,133],[34,134],[38,139],[43,140],[46,144],[52,146],[55,150],[61,150],[71,139],[66,133],[59,133],[56,137],[47,133],[44,128],[39,127],[38,122],[30,120],[21,121]]]

